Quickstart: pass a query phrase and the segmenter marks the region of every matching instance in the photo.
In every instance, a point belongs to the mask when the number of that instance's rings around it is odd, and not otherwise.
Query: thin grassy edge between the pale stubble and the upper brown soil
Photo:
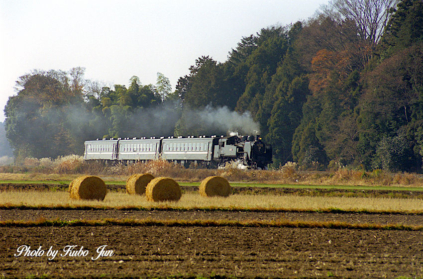
[[[244,208],[244,207],[172,207],[172,206],[158,206],[158,207],[134,207],[134,206],[85,206],[85,205],[58,205],[58,206],[31,206],[31,205],[0,205],[0,210],[122,210],[122,211],[183,211],[183,212],[298,212],[298,213],[333,213],[333,214],[395,214],[395,215],[423,215],[423,211],[417,210],[369,210],[369,209],[340,209],[340,208]]]

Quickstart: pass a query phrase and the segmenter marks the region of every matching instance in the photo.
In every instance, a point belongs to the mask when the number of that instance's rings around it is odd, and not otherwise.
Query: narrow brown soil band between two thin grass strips
[[[423,225],[423,214],[364,214],[327,212],[272,212],[272,211],[202,211],[202,210],[119,210],[119,209],[0,209],[0,221],[46,220],[100,220],[111,219],[154,219],[154,220],[260,220],[260,221],[314,221],[346,222],[350,224],[402,224]]]

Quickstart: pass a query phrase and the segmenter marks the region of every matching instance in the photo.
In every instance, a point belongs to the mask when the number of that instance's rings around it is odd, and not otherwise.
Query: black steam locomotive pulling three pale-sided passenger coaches
[[[260,135],[110,138],[85,141],[85,160],[135,162],[166,160],[186,167],[206,168],[236,161],[251,169],[265,169],[272,161],[272,146]]]

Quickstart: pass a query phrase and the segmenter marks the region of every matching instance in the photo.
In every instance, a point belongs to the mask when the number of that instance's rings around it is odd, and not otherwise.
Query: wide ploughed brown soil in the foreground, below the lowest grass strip
[[[245,227],[0,228],[5,277],[396,278],[423,276],[423,232]],[[60,250],[15,257],[20,245]],[[66,245],[86,257],[61,257]],[[97,257],[107,245],[111,257]]]

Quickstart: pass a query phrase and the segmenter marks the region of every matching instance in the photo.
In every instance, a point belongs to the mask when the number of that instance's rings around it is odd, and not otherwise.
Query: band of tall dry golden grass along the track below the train
[[[70,155],[50,158],[26,158],[22,165],[0,166],[0,173],[42,173],[64,175],[97,175],[103,177],[127,178],[136,173],[150,173],[155,177],[171,177],[179,181],[200,182],[208,176],[221,176],[232,182],[256,182],[277,184],[311,185],[381,185],[381,186],[423,186],[422,175],[410,173],[391,174],[382,170],[365,172],[344,167],[328,172],[300,171],[294,163],[275,170],[242,170],[237,164],[226,164],[222,169],[186,169],[167,161],[146,163],[105,163],[84,161],[81,156]],[[1,179],[1,178],[0,178]]]

